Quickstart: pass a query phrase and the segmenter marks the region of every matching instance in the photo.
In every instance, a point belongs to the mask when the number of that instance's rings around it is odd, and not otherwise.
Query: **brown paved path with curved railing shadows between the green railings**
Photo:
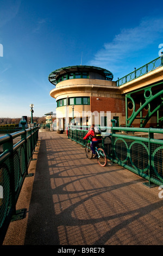
[[[4,245],[162,245],[158,187],[120,166],[101,167],[56,132],[39,132]]]

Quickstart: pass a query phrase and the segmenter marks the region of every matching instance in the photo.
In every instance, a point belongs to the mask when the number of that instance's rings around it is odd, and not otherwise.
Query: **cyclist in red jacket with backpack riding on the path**
[[[83,139],[87,139],[89,137],[91,137],[91,150],[93,153],[93,157],[95,157],[96,156],[95,147],[97,147],[97,145],[102,142],[101,131],[100,131],[99,127],[97,127],[93,124],[90,127],[89,132],[87,132],[87,134],[85,135],[85,137]]]

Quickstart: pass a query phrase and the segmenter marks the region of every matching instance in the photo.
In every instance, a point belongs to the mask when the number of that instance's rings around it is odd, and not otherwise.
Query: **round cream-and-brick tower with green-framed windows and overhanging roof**
[[[48,80],[55,86],[50,95],[57,101],[57,129],[65,130],[68,124],[109,126],[111,115],[122,119],[123,110],[125,119],[121,90],[112,79],[109,70],[96,66],[68,66],[51,72]]]

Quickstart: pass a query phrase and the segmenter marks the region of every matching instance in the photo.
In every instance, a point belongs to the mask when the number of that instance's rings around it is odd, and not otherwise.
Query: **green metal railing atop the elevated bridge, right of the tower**
[[[139,69],[135,68],[135,71],[131,72],[130,74],[123,76],[120,79],[118,78],[118,80],[116,81],[116,84],[117,86],[122,86],[123,84],[128,83],[140,76],[143,76],[148,72],[151,72],[154,69],[159,68],[162,65],[163,65],[163,57],[161,56],[152,60],[152,62],[149,62],[146,65],[141,66],[141,68]]]

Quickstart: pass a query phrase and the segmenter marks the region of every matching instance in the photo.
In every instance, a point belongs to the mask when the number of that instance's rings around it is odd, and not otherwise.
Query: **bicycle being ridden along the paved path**
[[[95,152],[96,152],[96,158],[97,162],[101,166],[106,166],[107,163],[107,157],[103,149],[95,147]],[[91,150],[91,139],[89,138],[87,144],[85,145],[85,154],[88,159],[92,159],[93,153]]]

